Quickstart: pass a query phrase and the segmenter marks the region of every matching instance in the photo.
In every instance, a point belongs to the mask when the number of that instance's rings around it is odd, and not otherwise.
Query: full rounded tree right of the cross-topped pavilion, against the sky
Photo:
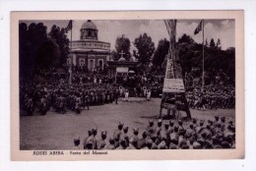
[[[151,36],[147,33],[141,34],[135,38],[134,46],[137,48],[136,57],[144,68],[149,65],[151,58],[155,51],[155,43],[152,41]]]

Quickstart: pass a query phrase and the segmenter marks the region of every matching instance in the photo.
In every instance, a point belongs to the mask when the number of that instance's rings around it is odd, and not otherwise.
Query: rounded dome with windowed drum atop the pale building
[[[91,21],[87,21],[82,28],[81,31],[81,39],[94,39],[97,40],[97,28],[96,25]]]

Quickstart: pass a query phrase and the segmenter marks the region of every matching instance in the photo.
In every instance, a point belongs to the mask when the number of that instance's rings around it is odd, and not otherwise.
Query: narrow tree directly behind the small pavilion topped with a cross
[[[117,36],[115,40],[115,59],[118,60],[121,55],[120,53],[124,53],[124,58],[128,61],[131,58],[131,41],[129,38],[125,37],[124,34],[122,36]]]

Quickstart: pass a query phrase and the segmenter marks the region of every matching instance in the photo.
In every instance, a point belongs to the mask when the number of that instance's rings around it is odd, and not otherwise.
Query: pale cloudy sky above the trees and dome
[[[88,20],[90,19],[73,21],[72,40],[80,39],[80,28]],[[31,23],[43,23],[47,27],[47,31],[49,31],[53,25],[66,28],[69,23],[69,21],[20,21],[20,23],[22,22],[27,23],[27,25]],[[98,29],[98,40],[110,42],[111,50],[114,49],[116,37],[122,34],[130,39],[132,45],[131,51],[135,49],[132,43],[134,39],[144,32],[152,37],[156,48],[158,47],[160,39],[168,39],[168,33],[162,20],[92,20],[92,22],[95,23]],[[186,33],[196,42],[202,43],[202,31],[194,35],[194,30],[199,23],[200,20],[178,20],[176,38],[178,39],[183,33]],[[210,39],[213,37],[215,42],[217,42],[218,38],[220,38],[222,49],[234,47],[234,28],[234,20],[205,20],[205,39],[208,39],[208,42],[210,42]],[[70,34],[71,31],[67,33],[68,38],[70,38]]]

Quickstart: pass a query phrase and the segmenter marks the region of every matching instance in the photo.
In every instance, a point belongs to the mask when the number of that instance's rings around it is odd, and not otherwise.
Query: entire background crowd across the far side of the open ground
[[[57,112],[65,113],[73,110],[80,113],[82,109],[92,105],[102,105],[116,100],[118,97],[161,97],[164,77],[159,73],[117,74],[107,76],[102,71],[72,73],[72,85],[69,77],[62,71],[50,69],[39,71],[36,82],[23,82],[20,88],[21,107],[29,115],[37,108],[40,113],[53,107]],[[226,109],[235,107],[234,85],[224,85],[224,76],[216,77],[212,84],[202,89],[200,79],[195,74],[185,74],[186,97],[191,108]],[[44,82],[45,81],[45,82]],[[127,97],[127,95],[126,95]]]

